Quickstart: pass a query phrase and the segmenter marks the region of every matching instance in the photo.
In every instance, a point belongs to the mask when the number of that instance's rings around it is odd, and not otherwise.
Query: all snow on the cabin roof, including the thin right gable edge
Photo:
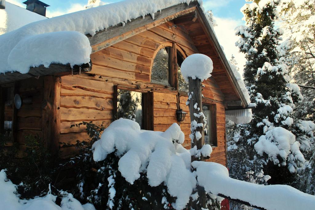
[[[216,49],[227,69],[227,75],[234,83],[243,106],[246,106],[248,104],[247,91],[245,91],[242,83],[238,81],[238,75],[233,73],[227,62],[215,36],[209,13],[204,10],[202,1],[197,1],[198,3],[195,5],[199,9],[198,11],[202,12],[201,18],[205,22],[211,39],[214,40]],[[150,15],[152,19],[154,19],[155,15],[158,15],[160,18],[160,13],[163,13],[164,9],[179,4],[192,4],[192,2],[197,1],[124,0],[32,22],[0,36],[0,63],[2,64],[0,65],[0,73],[19,72],[25,75],[30,71],[31,67],[41,65],[49,67],[52,63],[58,63],[73,66],[75,64],[89,63],[92,52],[91,45],[95,45],[95,43],[90,43],[93,37],[88,38],[89,35],[100,34],[105,31],[104,29],[118,24],[124,26],[133,19],[145,18],[147,15]],[[183,7],[182,9],[186,8],[188,7]],[[175,13],[175,10],[170,10],[170,12]],[[144,22],[143,25],[145,24]],[[123,31],[123,29],[119,31]],[[106,36],[102,38],[108,39]],[[31,75],[34,74],[31,73]],[[14,78],[14,74],[10,75],[10,77]],[[22,79],[22,77],[19,79]]]

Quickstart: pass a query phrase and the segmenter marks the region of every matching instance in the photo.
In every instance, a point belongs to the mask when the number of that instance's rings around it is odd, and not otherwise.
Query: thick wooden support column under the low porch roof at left
[[[59,149],[61,78],[44,77],[42,103],[43,140],[52,153]]]

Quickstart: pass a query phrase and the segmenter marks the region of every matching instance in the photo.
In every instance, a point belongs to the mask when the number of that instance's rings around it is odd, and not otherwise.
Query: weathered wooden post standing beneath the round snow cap
[[[202,94],[201,94],[201,80],[199,78],[189,79],[189,112],[190,112],[190,119],[191,122],[196,121],[197,124],[203,123],[203,116],[200,116],[199,113],[202,112]],[[197,103],[197,109],[195,108],[195,104]],[[199,108],[199,109],[198,109]],[[199,116],[199,117],[197,117]],[[201,149],[204,144],[204,132],[203,126],[196,127],[195,130],[191,130],[193,139],[191,148],[197,146],[197,149]],[[196,132],[200,132],[201,138],[197,139]],[[198,136],[198,135],[197,135]],[[196,158],[195,156],[191,156],[191,162],[199,160],[203,161],[204,157],[201,156],[200,159]],[[193,167],[191,170],[195,170]],[[193,202],[192,209],[201,209],[201,207],[206,208],[206,193],[202,189],[198,189],[198,202]]]

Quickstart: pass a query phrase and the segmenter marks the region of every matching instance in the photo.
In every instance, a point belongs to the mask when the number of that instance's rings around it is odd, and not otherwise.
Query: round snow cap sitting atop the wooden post
[[[181,74],[186,82],[188,78],[199,78],[201,81],[211,77],[213,62],[211,58],[203,54],[192,54],[183,61],[180,67]]]

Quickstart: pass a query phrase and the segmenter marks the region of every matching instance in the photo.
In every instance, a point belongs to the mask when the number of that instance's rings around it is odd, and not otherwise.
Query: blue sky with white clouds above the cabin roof
[[[25,0],[7,0],[20,7],[26,8],[23,4]],[[88,0],[41,0],[50,5],[47,8],[47,17],[55,17],[66,13],[76,12],[84,9],[84,5]],[[101,0],[104,3],[118,2],[119,0]],[[141,1],[141,0],[140,0]],[[238,25],[245,24],[242,21],[243,14],[240,8],[246,3],[245,0],[203,0],[203,6],[206,10],[212,10],[214,18],[218,24],[215,27],[215,33],[220,44],[224,48],[227,59],[230,59],[232,54],[235,56],[238,67],[243,69],[246,60],[242,53],[238,52],[235,42],[238,37],[234,35],[234,29]],[[242,73],[242,72],[241,72]]]

